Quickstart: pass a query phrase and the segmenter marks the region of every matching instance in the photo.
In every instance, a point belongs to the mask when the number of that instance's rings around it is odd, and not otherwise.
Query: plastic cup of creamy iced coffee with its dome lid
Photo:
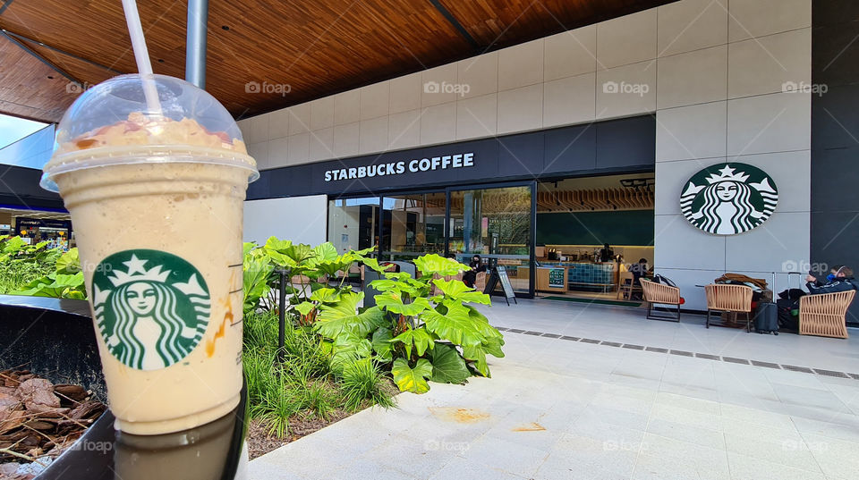
[[[211,422],[242,388],[242,203],[259,177],[233,118],[190,83],[90,88],[57,126],[42,186],[72,215],[116,427]]]

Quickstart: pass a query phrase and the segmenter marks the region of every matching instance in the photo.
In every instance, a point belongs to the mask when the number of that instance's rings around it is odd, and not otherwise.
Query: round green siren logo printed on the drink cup
[[[92,279],[96,325],[124,365],[157,370],[187,357],[208,325],[210,299],[200,272],[159,250],[106,257]]]

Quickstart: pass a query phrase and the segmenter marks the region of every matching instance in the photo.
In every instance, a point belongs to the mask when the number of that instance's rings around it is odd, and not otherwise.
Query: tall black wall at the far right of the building
[[[859,2],[813,0],[811,261],[859,272]],[[847,312],[859,324],[859,299]]]

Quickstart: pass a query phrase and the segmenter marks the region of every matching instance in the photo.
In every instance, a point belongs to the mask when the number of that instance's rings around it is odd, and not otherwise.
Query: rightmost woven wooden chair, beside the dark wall
[[[799,334],[847,338],[847,308],[855,290],[804,295],[799,299]]]

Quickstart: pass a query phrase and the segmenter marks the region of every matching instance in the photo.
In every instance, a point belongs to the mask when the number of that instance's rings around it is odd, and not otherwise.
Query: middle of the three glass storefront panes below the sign
[[[382,198],[382,244],[386,259],[412,260],[445,253],[445,192]]]

